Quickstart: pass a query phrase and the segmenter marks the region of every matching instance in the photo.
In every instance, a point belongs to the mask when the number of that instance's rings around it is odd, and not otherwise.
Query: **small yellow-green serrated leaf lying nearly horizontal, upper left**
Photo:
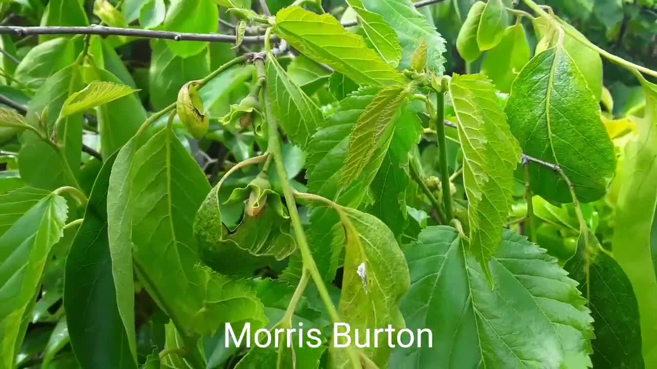
[[[64,101],[60,117],[72,116],[73,114],[114,101],[117,98],[130,95],[135,91],[138,90],[119,83],[93,81],[87,87],[70,95]]]

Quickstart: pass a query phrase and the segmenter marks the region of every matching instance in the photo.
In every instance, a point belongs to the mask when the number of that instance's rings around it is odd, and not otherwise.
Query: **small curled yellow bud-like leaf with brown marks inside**
[[[192,137],[200,139],[208,132],[210,122],[205,114],[203,101],[196,91],[196,83],[198,82],[189,81],[183,85],[178,92],[175,109],[180,121],[183,122]]]

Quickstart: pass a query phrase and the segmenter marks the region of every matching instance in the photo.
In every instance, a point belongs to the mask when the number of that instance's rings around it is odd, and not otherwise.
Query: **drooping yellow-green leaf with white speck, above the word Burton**
[[[346,233],[344,276],[338,313],[354,332],[358,330],[375,339],[374,328],[404,328],[399,300],[409,288],[409,269],[394,234],[379,219],[355,209],[340,209]],[[367,331],[366,331],[367,330]],[[339,340],[345,343],[344,339]],[[363,343],[363,341],[361,341]],[[348,367],[346,349],[331,346],[332,368]],[[362,349],[376,365],[385,366],[392,352],[388,345],[369,345]]]

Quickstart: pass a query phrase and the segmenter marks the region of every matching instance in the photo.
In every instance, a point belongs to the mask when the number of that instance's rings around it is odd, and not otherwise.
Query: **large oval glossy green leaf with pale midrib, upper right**
[[[530,60],[511,87],[506,113],[522,151],[559,165],[581,202],[604,195],[616,167],[614,146],[598,101],[564,48]],[[560,175],[543,165],[530,164],[530,181],[545,200],[572,201]]]

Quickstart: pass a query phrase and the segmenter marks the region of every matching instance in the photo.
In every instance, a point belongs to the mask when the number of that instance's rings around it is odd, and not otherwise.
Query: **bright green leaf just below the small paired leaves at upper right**
[[[503,93],[511,91],[511,83],[530,61],[532,51],[522,23],[510,26],[499,44],[489,50],[482,63],[482,74],[488,76]]]

